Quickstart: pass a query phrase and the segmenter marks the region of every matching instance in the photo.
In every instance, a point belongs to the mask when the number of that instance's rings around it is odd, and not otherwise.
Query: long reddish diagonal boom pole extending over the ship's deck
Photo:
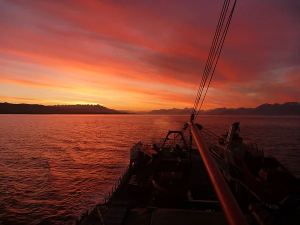
[[[208,150],[199,129],[194,126],[193,122],[188,122],[191,134],[198,147],[198,151],[202,157],[204,166],[207,170],[209,179],[218,197],[222,210],[225,214],[228,224],[244,225],[247,224],[233,194],[231,193],[224,177],[215,164],[210,151]]]

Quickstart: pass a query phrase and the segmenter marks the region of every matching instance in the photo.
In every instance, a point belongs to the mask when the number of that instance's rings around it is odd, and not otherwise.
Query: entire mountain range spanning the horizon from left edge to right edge
[[[42,104],[12,104],[0,103],[0,114],[166,114],[189,115],[192,108],[158,109],[151,111],[118,111],[97,105],[42,105]],[[200,110],[201,115],[300,115],[299,102],[285,102],[283,104],[261,104],[255,108],[214,108]]]

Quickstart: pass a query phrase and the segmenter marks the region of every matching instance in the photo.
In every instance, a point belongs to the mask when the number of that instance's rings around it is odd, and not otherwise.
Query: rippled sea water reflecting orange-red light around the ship
[[[102,199],[138,140],[164,138],[188,116],[0,115],[0,224],[72,224]],[[240,122],[300,178],[300,117],[202,116],[220,135]]]

